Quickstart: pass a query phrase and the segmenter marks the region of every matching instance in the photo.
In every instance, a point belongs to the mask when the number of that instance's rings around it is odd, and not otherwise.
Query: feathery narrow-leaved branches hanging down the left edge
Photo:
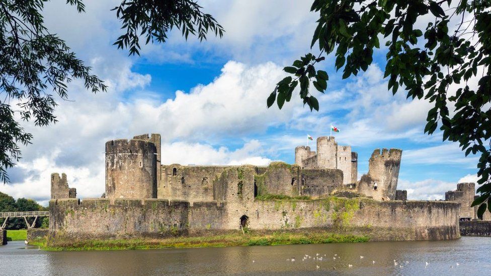
[[[37,126],[56,122],[52,94],[66,100],[67,83],[73,78],[82,79],[94,93],[107,88],[63,40],[48,32],[41,15],[45,2],[0,0],[0,180],[4,183],[9,180],[7,169],[21,158],[19,144],[32,139],[19,119],[34,120]],[[84,12],[80,0],[67,3]]]

